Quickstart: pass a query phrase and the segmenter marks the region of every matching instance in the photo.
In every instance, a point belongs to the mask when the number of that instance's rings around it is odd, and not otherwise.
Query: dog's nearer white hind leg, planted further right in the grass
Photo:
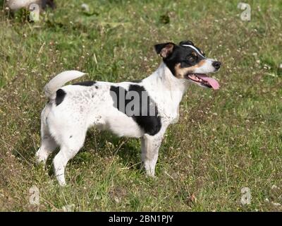
[[[61,186],[66,185],[65,168],[68,160],[71,160],[71,158],[73,158],[78,153],[80,148],[82,148],[87,130],[85,129],[84,131],[82,131],[78,128],[74,128],[71,131],[76,132],[72,133],[72,136],[65,136],[63,138],[63,141],[61,143],[61,150],[53,160],[56,179]]]

